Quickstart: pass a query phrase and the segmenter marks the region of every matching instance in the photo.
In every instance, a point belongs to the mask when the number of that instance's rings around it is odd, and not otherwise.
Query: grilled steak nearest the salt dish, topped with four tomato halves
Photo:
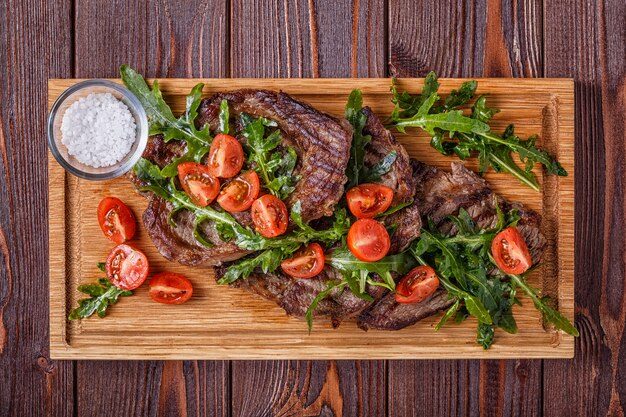
[[[286,202],[287,205],[300,200],[302,217],[307,222],[331,214],[343,194],[346,182],[345,170],[352,138],[350,125],[285,93],[239,90],[216,94],[204,100],[199,109],[199,126],[208,123],[211,132],[217,131],[219,104],[224,98],[229,101],[236,136],[242,143],[245,143],[245,138],[241,135],[237,121],[239,114],[246,112],[253,117],[275,121],[282,133],[281,145],[291,146],[296,151],[298,162],[294,173],[302,179]],[[152,136],[143,157],[162,168],[185,150],[184,142],[172,140],[165,143],[161,136]],[[141,186],[132,174],[131,180]],[[143,223],[165,258],[190,266],[210,266],[249,253],[233,243],[222,241],[210,221],[204,222],[201,229],[214,246],[203,246],[194,237],[194,217],[191,213],[184,210],[175,213],[172,220],[176,227],[172,227],[168,222],[171,205],[152,193],[146,193],[146,197],[149,202],[143,214]],[[244,226],[252,224],[249,213],[233,213],[233,216]]]

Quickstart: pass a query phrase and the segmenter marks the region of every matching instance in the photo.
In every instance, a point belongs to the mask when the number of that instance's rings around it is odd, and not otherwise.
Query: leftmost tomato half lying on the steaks
[[[194,204],[206,207],[220,192],[220,181],[205,165],[183,162],[178,165],[178,179]]]

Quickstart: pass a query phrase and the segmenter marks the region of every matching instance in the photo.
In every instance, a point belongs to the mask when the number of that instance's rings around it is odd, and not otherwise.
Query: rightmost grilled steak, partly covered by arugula
[[[541,219],[537,213],[496,196],[484,179],[460,162],[452,164],[450,173],[417,161],[413,161],[413,169],[417,184],[414,205],[423,219],[430,218],[441,231],[453,234],[455,230],[446,216],[458,214],[461,208],[467,210],[481,228],[495,226],[495,204],[503,211],[517,208],[522,217],[518,229],[528,244],[533,262],[539,262],[546,241],[539,230]],[[446,309],[453,302],[443,290],[438,290],[428,300],[408,305],[398,304],[395,295],[388,293],[359,315],[357,325],[363,330],[398,330]]]

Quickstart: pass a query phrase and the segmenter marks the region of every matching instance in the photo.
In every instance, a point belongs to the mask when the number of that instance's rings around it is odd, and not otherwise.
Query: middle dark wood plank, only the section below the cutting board
[[[384,361],[235,361],[235,416],[377,416]]]

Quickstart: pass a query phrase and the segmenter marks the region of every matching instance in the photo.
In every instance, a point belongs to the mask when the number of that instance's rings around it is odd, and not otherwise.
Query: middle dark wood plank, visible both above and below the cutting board
[[[233,77],[385,76],[383,1],[235,0],[231,9]],[[234,361],[232,367],[234,415],[385,413],[383,361]]]

